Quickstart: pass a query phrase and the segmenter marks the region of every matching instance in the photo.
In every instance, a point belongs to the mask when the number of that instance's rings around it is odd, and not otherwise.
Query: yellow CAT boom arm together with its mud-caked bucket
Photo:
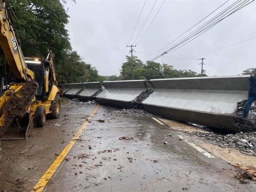
[[[8,2],[0,0],[0,44],[15,78],[13,85],[0,97],[0,138],[11,128],[18,135],[25,132],[26,137],[27,128],[33,124],[29,108],[38,87],[34,82],[33,71],[27,68],[15,35],[12,14]]]

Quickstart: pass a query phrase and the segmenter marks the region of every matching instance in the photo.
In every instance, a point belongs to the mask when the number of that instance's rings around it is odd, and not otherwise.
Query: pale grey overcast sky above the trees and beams
[[[151,54],[157,53],[225,1],[166,0],[145,35],[136,44],[134,55],[146,61]],[[139,35],[154,2],[146,1],[129,45],[133,44]],[[234,2],[230,0],[204,22]],[[163,0],[157,0],[144,30],[153,20],[162,3]],[[70,16],[67,29],[73,50],[76,50],[85,62],[95,66],[100,75],[119,75],[118,69],[121,63],[125,62],[124,51],[127,42],[143,4],[144,0],[76,0],[75,5],[66,5],[65,9],[68,7]],[[200,73],[201,66],[198,65],[200,61],[170,57],[194,57],[253,37],[256,37],[255,2],[230,15],[185,46],[156,61],[173,65],[176,69],[191,69]],[[129,54],[129,49],[126,49],[125,54]],[[196,58],[201,57],[206,58],[204,69],[208,76],[241,74],[247,68],[256,67],[256,39]]]

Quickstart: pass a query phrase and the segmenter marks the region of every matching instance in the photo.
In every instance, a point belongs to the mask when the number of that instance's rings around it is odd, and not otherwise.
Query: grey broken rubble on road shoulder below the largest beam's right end
[[[222,148],[235,148],[256,156],[256,132],[239,132],[228,135],[218,135],[213,132],[195,133],[198,137],[206,138],[208,142]]]

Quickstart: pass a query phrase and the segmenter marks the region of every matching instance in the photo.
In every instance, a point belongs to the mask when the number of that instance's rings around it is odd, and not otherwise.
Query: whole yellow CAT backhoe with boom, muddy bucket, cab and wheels
[[[61,90],[57,87],[54,54],[49,52],[45,60],[24,58],[11,15],[11,6],[0,0],[0,44],[15,78],[7,90],[0,91],[1,140],[26,139],[34,123],[44,126],[46,116],[60,116]]]

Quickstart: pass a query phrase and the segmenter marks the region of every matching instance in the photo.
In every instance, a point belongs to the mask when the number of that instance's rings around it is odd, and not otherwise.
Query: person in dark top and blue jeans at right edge
[[[249,80],[251,83],[250,83],[250,89],[249,89],[249,93],[248,93],[247,103],[244,107],[243,118],[247,117],[252,102],[256,101],[256,73],[252,74],[249,77]]]

